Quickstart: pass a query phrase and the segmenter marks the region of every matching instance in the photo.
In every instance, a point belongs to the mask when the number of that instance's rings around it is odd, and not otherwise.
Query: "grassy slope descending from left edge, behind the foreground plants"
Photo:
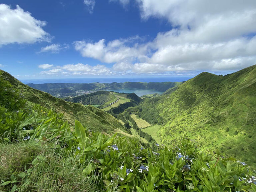
[[[24,85],[9,73],[0,70],[1,76],[17,89],[21,90],[23,96],[27,99],[27,105],[31,108],[34,104],[40,104],[48,109],[52,108],[57,113],[63,113],[64,118],[73,126],[75,120],[79,120],[83,126],[94,131],[102,131],[112,134],[119,132],[127,134],[125,128],[112,115],[97,109],[93,106],[84,106],[79,103],[66,102],[62,99],[51,96],[48,93],[33,89]]]

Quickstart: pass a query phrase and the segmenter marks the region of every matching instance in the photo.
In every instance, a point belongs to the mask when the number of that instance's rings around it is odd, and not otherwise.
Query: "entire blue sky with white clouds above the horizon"
[[[255,0],[2,0],[18,79],[193,77],[256,64]]]

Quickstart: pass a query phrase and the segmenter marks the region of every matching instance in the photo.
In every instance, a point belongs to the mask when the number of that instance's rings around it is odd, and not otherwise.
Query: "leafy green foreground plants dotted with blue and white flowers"
[[[131,137],[90,131],[78,121],[72,129],[63,115],[38,105],[18,110],[24,111],[22,118],[8,122],[8,134],[0,137],[0,191],[255,189],[255,173],[243,162],[219,151],[201,152],[188,139],[180,137],[171,148],[150,147]],[[138,128],[129,112],[124,118]]]

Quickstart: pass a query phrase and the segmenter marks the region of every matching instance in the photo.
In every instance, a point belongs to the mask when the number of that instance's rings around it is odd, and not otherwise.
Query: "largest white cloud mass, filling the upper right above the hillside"
[[[136,0],[142,19],[165,18],[172,29],[149,42],[132,38],[74,42],[83,57],[113,71],[235,71],[256,64],[254,0]],[[139,37],[137,37],[139,39]]]

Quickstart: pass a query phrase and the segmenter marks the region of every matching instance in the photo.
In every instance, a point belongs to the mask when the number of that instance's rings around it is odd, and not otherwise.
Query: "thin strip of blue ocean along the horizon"
[[[193,77],[142,77],[142,78],[67,78],[67,79],[24,79],[20,80],[24,84],[34,83],[122,83],[122,82],[182,82]]]

